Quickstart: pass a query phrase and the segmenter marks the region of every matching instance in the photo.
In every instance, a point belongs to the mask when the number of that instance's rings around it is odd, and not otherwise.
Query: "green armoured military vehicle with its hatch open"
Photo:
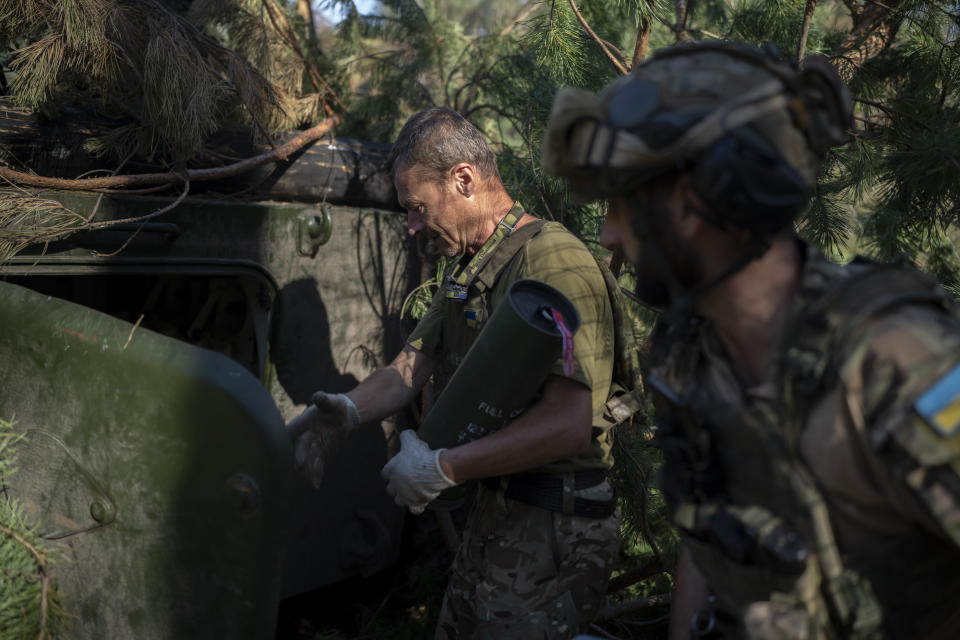
[[[380,425],[319,490],[284,432],[402,345],[420,267],[387,150],[317,143],[0,265],[0,417],[26,436],[4,485],[63,552],[68,637],[272,638],[281,600],[395,560]],[[103,220],[173,199],[39,195]]]

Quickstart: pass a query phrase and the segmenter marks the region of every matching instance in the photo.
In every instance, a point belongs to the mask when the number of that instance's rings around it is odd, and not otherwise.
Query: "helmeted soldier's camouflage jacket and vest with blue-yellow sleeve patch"
[[[729,637],[957,637],[960,323],[907,281],[807,251],[752,388],[708,322],[655,331],[663,488]]]

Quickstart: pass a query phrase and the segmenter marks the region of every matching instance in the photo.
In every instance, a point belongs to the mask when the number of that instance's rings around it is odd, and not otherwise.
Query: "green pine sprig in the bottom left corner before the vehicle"
[[[0,481],[4,483],[15,472],[21,437],[14,433],[12,421],[0,419]],[[54,557],[21,506],[4,491],[0,495],[0,637],[64,637],[68,615],[51,572]]]

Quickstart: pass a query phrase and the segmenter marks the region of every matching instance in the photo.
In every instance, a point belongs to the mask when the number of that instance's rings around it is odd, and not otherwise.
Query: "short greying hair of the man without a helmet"
[[[482,180],[501,182],[497,158],[483,134],[453,109],[430,107],[413,114],[403,125],[388,166],[391,176],[416,167],[428,179],[442,182],[459,162],[476,167]]]

